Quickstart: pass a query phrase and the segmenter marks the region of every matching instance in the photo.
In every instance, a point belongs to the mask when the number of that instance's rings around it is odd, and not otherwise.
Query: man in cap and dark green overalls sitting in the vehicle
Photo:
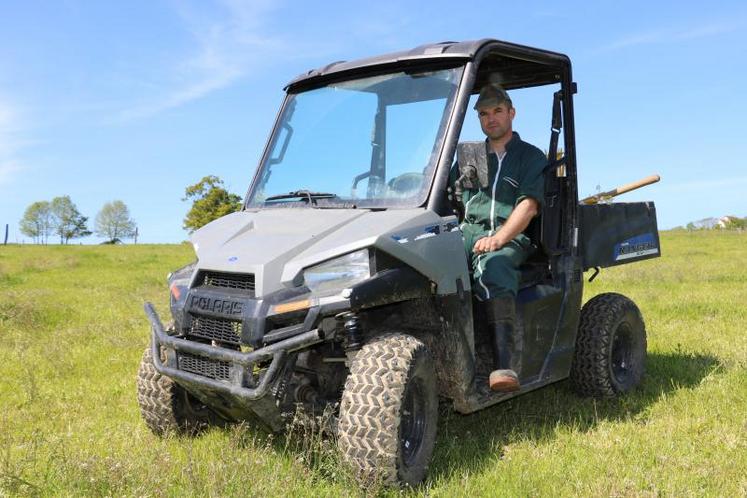
[[[516,391],[520,385],[512,359],[518,353],[514,322],[519,265],[533,250],[522,232],[542,205],[547,158],[513,131],[516,109],[499,85],[484,86],[475,109],[487,136],[487,186],[464,189],[462,236],[472,265],[473,292],[485,307],[492,334],[490,389]]]

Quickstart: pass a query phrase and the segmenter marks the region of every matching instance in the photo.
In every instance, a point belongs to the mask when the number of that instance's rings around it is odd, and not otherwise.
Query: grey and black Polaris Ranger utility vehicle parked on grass
[[[487,388],[491,347],[449,185],[488,82],[551,96],[544,205],[517,297],[521,390],[509,394]],[[592,396],[640,382],[638,308],[603,294],[581,309],[582,277],[658,256],[656,211],[579,203],[568,57],[438,43],[332,63],[286,92],[243,208],[195,232],[197,260],[169,276],[173,325],[145,304],[138,401],[155,433],[248,418],[282,430],[297,409],[327,409],[361,478],[415,484],[439,399],[468,414],[568,377]],[[478,170],[462,176],[481,181]]]

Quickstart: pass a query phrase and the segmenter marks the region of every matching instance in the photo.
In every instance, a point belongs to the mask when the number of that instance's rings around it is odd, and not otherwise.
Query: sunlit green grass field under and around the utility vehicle
[[[600,401],[561,382],[470,416],[444,408],[429,479],[369,493],[747,496],[747,233],[665,232],[662,248],[585,289],[641,308],[638,390]],[[188,245],[0,246],[0,496],[363,494],[316,435],[146,429],[142,303],[165,314],[166,274],[191,259]]]

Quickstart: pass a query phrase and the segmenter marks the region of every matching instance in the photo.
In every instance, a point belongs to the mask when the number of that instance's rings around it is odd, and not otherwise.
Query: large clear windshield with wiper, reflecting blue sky
[[[247,207],[422,204],[461,73],[400,72],[290,95]]]

